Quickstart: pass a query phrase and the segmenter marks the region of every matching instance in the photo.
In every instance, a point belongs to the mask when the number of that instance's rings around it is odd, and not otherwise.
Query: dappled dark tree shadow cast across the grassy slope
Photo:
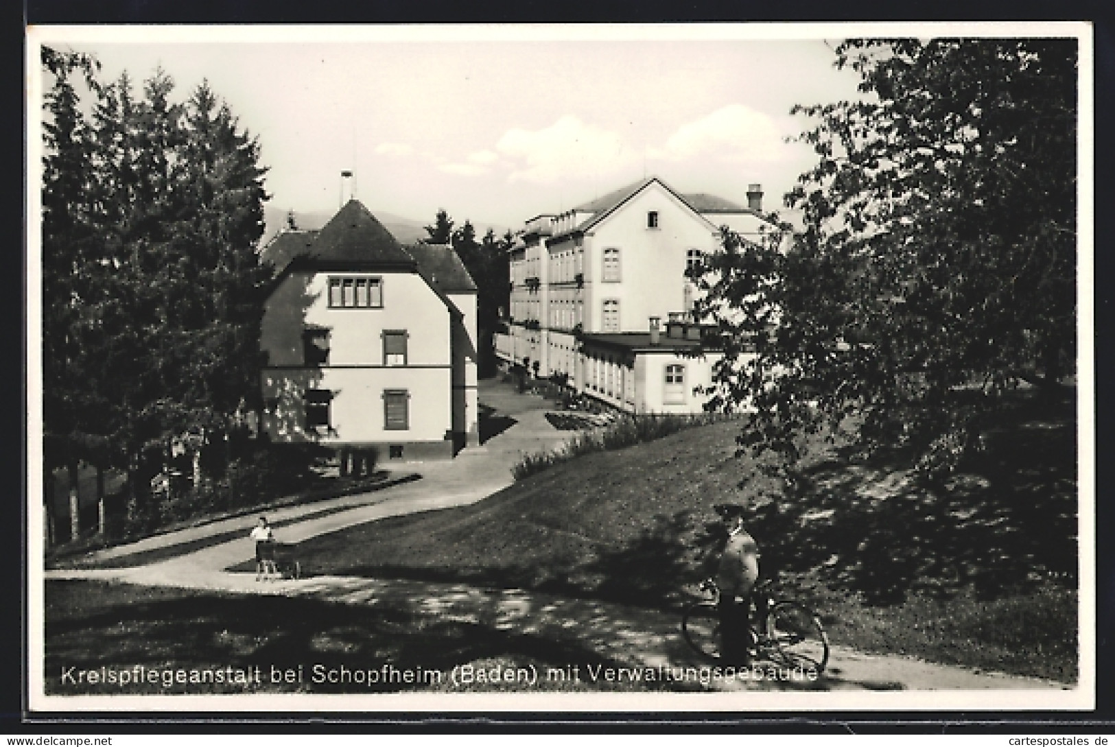
[[[721,499],[709,496],[708,504]],[[1075,585],[1076,431],[1064,417],[1004,425],[977,463],[937,485],[915,481],[898,462],[852,464],[833,449],[803,470],[794,495],[760,487],[748,501],[755,507],[747,527],[762,550],[764,575],[808,576],[869,603],[961,590],[995,599],[1050,580]],[[660,608],[676,607],[687,585],[715,572],[725,541],[711,510],[661,513],[619,546],[566,533],[560,553],[535,551],[525,539],[530,528],[521,526],[523,536],[500,553],[453,562],[322,562],[330,573],[467,581]],[[563,532],[544,528],[543,537]]]

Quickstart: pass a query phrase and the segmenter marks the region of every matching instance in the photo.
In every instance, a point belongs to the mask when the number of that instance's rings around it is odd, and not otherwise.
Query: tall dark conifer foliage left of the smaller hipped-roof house
[[[259,396],[266,275],[259,144],[198,86],[142,96],[43,48],[42,314],[48,465],[133,470],[186,430],[227,429]],[[81,99],[75,72],[85,76]],[[96,446],[96,453],[90,448]],[[51,458],[50,454],[55,456]],[[149,476],[149,475],[148,475]]]

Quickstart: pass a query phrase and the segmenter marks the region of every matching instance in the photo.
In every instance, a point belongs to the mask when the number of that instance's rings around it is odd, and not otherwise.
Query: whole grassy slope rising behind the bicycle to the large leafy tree
[[[752,505],[765,574],[837,644],[1075,681],[1076,431],[1029,402],[935,488],[809,445],[793,496],[735,455],[738,424],[588,454],[478,504],[316,537],[310,573],[468,581],[677,609]]]

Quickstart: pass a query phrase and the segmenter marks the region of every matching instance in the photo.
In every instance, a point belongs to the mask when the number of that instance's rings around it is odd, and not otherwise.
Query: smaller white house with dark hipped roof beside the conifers
[[[450,246],[403,246],[351,200],[261,260],[277,273],[260,339],[273,442],[406,460],[478,443],[476,284]]]

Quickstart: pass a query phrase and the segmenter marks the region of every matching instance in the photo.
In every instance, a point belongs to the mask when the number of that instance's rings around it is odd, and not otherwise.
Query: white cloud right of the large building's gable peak
[[[778,161],[783,134],[769,116],[731,104],[678,128],[662,148],[648,155],[665,161],[685,161],[715,154],[725,161]]]

